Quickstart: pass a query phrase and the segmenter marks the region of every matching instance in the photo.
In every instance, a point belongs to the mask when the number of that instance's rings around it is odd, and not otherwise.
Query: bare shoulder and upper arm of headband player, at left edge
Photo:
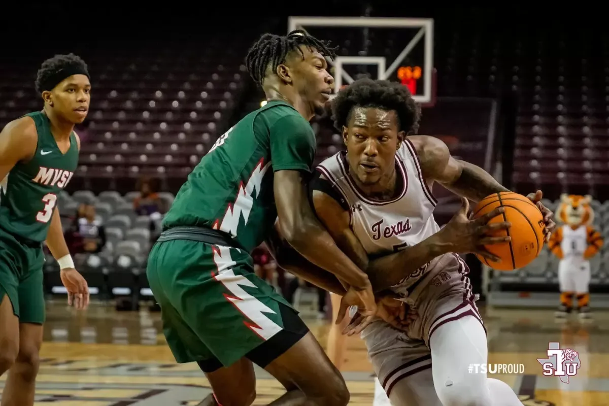
[[[0,132],[0,181],[19,161],[36,153],[38,133],[30,117],[9,122]]]

